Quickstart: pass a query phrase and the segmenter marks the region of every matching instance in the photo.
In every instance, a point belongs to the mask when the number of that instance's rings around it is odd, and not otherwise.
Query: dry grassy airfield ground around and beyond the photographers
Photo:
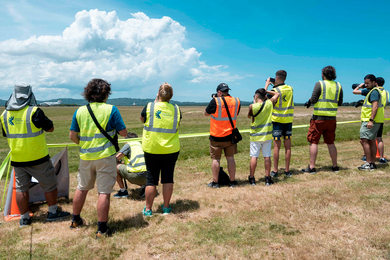
[[[42,107],[54,122],[53,133],[45,133],[48,144],[69,143],[69,127],[76,107]],[[119,107],[129,132],[142,135],[139,116],[142,107]],[[204,107],[181,107],[179,134],[209,131]],[[242,107],[239,129],[250,128]],[[293,125],[310,122],[313,108],[296,107]],[[385,117],[390,111],[385,109]],[[360,120],[360,107],[340,107],[338,121]],[[256,169],[256,186],[248,185],[249,134],[238,144],[235,189],[210,189],[212,180],[208,137],[180,139],[176,163],[173,213],[162,216],[161,185],[151,218],[141,210],[145,200],[138,186],[129,185],[130,198],[112,199],[108,225],[117,228],[113,237],[95,240],[97,191],[89,192],[81,216],[85,227],[70,230],[70,218],[46,223],[47,204],[31,207],[34,222],[19,228],[18,221],[1,221],[0,259],[390,259],[389,166],[374,172],[358,171],[363,162],[359,143],[360,123],[337,126],[336,147],[340,172],[329,171],[331,160],[326,144],[319,144],[317,174],[302,174],[309,163],[308,128],[294,128],[291,178],[282,175],[273,186],[264,186],[262,158]],[[390,131],[385,121],[383,137]],[[0,160],[9,151],[5,138],[0,142]],[[49,148],[55,155],[62,148]],[[282,148],[284,149],[284,148]],[[282,151],[282,150],[281,150]],[[390,157],[390,137],[385,156]],[[77,186],[78,148],[69,147],[71,198],[59,204],[72,212]],[[221,160],[226,168],[226,160]],[[279,172],[284,170],[281,153]],[[5,178],[0,181],[4,188]],[[1,193],[2,194],[2,190]],[[115,190],[119,187],[116,185]]]

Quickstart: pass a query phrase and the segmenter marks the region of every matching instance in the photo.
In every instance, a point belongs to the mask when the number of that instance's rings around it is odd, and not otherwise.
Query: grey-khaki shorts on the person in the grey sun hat
[[[57,188],[57,176],[54,174],[53,163],[47,162],[27,167],[14,167],[16,192],[26,192],[30,189],[31,177],[41,185],[43,192],[50,192]]]

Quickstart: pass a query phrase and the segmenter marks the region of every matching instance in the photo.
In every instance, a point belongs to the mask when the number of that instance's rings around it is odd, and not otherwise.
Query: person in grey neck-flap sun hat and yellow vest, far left
[[[28,213],[28,190],[31,177],[39,181],[48,202],[46,221],[69,216],[57,206],[57,176],[46,146],[45,132],[53,132],[53,122],[36,106],[31,86],[15,84],[1,115],[3,136],[11,149],[11,166],[15,170],[16,204],[20,211],[20,227],[31,224]]]

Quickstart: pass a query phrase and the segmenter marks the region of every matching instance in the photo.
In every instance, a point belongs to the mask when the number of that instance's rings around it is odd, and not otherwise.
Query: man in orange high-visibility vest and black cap
[[[204,115],[210,116],[210,156],[212,159],[211,170],[213,172],[213,181],[207,186],[211,188],[219,188],[218,174],[220,170],[220,160],[222,150],[225,153],[227,160],[227,170],[230,178],[230,188],[237,186],[236,177],[236,162],[234,155],[238,153],[237,144],[232,143],[233,127],[228,116],[228,109],[234,127],[236,127],[236,119],[240,112],[240,100],[229,95],[229,86],[221,83],[217,86],[217,93],[213,94],[213,99],[207,105]],[[226,103],[225,103],[226,102]],[[225,105],[226,104],[226,105]]]

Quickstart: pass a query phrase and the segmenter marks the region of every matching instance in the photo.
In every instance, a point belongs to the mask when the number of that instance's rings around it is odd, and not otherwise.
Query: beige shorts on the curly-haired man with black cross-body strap
[[[97,160],[80,159],[80,170],[78,171],[77,188],[79,190],[92,190],[95,187],[97,192],[112,193],[117,180],[117,158],[111,155]]]

